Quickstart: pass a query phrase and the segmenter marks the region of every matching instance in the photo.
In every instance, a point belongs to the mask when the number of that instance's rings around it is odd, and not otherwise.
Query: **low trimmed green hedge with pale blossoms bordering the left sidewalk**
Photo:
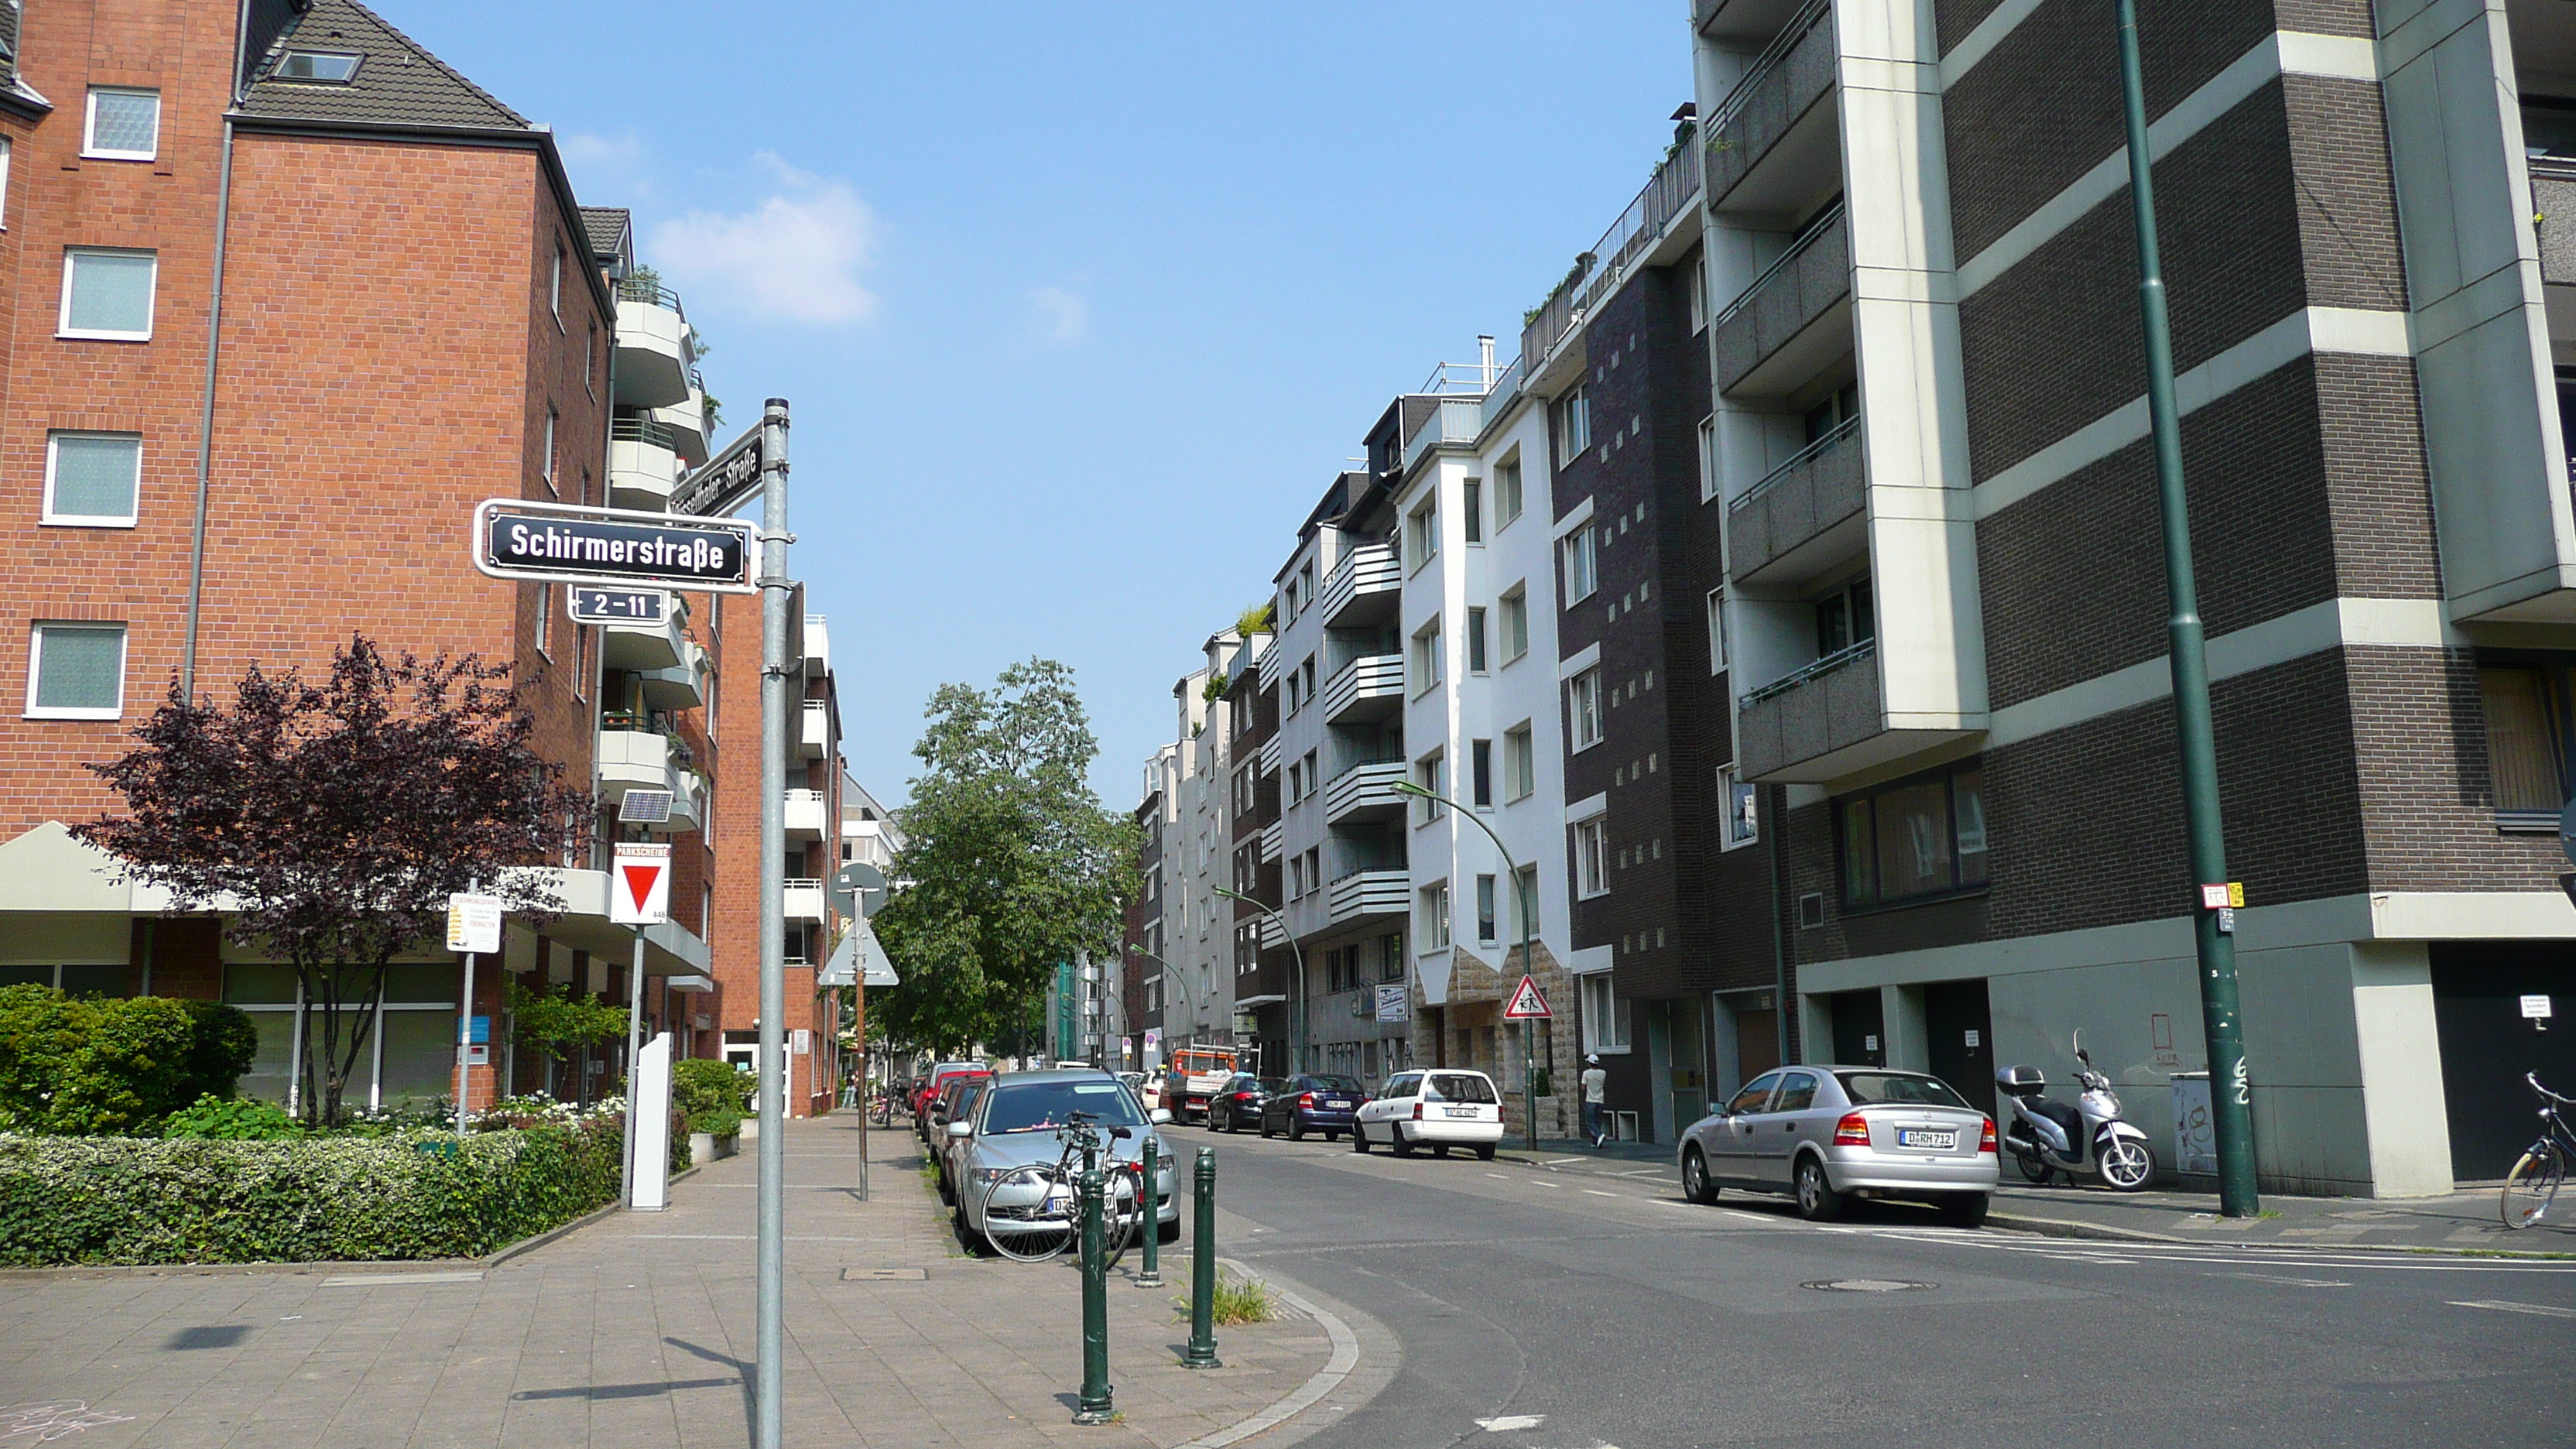
[[[621,1124],[466,1137],[0,1137],[0,1263],[479,1258],[618,1196]]]

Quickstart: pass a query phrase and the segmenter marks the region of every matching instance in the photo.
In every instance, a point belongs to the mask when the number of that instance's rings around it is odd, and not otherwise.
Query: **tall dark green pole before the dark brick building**
[[[2164,503],[2164,575],[2172,593],[2174,735],[2182,745],[2182,817],[2192,841],[2192,936],[2200,946],[2200,1029],[2210,1044],[2210,1124],[2218,1134],[2218,1212],[2251,1217],[2254,1109],[2244,1026],[2236,1008],[2233,915],[2200,887],[2226,887],[2228,841],[2218,820],[2218,745],[2210,730],[2210,663],[2192,585],[2192,518],[2182,495],[2182,420],[2174,407],[2174,330],[2164,315],[2164,263],[2156,255],[2156,183],[2146,150],[2146,83],[2138,70],[2138,0],[2120,8],[2120,95],[2128,103],[2128,193],[2138,211],[2138,312],[2146,330],[2146,415],[2156,438],[2156,495]]]

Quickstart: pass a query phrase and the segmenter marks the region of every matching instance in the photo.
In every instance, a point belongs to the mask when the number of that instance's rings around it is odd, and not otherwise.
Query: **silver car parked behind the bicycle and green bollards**
[[[1151,1122],[1136,1104],[1136,1093],[1103,1070],[1051,1070],[1007,1073],[984,1088],[974,1116],[956,1122],[948,1132],[958,1142],[951,1168],[956,1173],[958,1227],[971,1243],[987,1240],[984,1194],[1012,1168],[1054,1168],[1064,1158],[1061,1129],[1072,1114],[1082,1111],[1108,1140],[1103,1163],[1141,1163],[1146,1137],[1154,1140],[1159,1199],[1157,1220],[1164,1243],[1180,1238],[1180,1204],[1172,1189],[1180,1176],[1172,1171],[1172,1145],[1154,1132],[1172,1114],[1157,1109]]]

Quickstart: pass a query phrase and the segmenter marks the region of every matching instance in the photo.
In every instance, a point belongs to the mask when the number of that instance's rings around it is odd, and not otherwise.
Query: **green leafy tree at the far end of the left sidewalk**
[[[1069,668],[1028,660],[994,688],[945,683],[925,714],[891,871],[907,884],[871,920],[902,985],[868,993],[868,1018],[945,1055],[1018,1039],[1074,951],[1115,959],[1136,822],[1087,784],[1100,740]]]

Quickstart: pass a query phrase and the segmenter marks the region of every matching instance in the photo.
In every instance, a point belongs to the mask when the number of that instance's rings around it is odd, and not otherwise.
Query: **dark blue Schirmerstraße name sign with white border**
[[[471,547],[492,578],[757,593],[757,534],[737,518],[487,498],[474,505]]]

